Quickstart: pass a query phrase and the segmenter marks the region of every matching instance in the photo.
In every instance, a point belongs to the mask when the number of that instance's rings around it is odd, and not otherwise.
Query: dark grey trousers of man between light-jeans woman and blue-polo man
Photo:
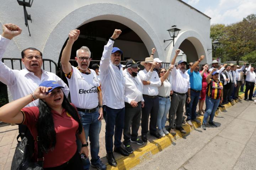
[[[182,125],[183,107],[186,102],[186,95],[172,94],[171,107],[169,110],[169,126],[174,128],[175,115],[176,127],[180,128]],[[177,114],[176,114],[177,113]]]

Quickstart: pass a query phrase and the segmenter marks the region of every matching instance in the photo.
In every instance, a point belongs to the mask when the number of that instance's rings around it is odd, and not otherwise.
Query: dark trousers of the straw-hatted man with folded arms
[[[148,119],[150,115],[149,130],[151,133],[156,133],[156,122],[159,109],[159,98],[150,98],[143,96],[144,98],[144,107],[142,108],[142,135],[148,133]]]

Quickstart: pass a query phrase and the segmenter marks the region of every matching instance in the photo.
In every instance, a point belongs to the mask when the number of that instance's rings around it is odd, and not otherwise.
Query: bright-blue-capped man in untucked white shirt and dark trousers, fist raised
[[[104,118],[106,121],[106,152],[107,160],[111,166],[117,166],[113,156],[113,135],[114,135],[114,152],[124,156],[129,153],[121,147],[121,138],[124,127],[124,89],[125,80],[121,62],[121,51],[113,47],[115,39],[121,34],[121,30],[114,30],[113,35],[104,46],[103,54],[100,61],[100,79],[102,87],[102,99],[104,106]]]

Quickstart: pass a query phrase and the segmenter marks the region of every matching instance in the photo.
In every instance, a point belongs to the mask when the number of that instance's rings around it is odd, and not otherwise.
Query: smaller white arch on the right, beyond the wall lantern
[[[206,43],[204,42],[204,39],[201,37],[200,34],[198,34],[197,32],[193,31],[193,30],[187,30],[184,31],[182,33],[180,33],[177,38],[175,38],[175,44],[174,47],[171,46],[169,51],[168,51],[168,55],[166,57],[166,61],[167,62],[171,62],[171,59],[174,57],[175,55],[175,50],[178,49],[178,47],[180,47],[181,43],[185,40],[189,40],[195,47],[197,54],[199,56],[204,55],[206,56],[204,58],[204,60],[202,61],[202,63],[206,62],[206,63],[211,63],[212,62],[212,53],[207,53],[207,46]]]

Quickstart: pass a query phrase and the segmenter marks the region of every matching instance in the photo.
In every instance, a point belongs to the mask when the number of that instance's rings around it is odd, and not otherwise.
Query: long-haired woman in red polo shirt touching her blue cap
[[[85,157],[88,157],[88,143],[76,108],[68,102],[62,88],[56,81],[44,81],[32,94],[2,106],[0,121],[27,125],[34,138],[33,160],[36,162],[38,158],[39,140],[45,170],[82,170],[76,135],[83,143],[80,154]],[[25,107],[36,99],[39,99],[37,107]]]

